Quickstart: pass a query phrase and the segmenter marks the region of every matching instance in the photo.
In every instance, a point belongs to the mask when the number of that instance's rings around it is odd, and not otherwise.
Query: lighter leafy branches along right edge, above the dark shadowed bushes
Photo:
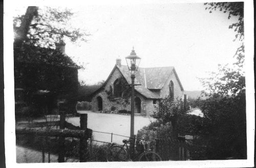
[[[233,29],[237,32],[236,39],[239,39],[242,44],[237,49],[234,57],[237,62],[233,63],[233,66],[219,65],[217,73],[209,74],[209,78],[200,79],[203,86],[206,88],[206,92],[209,95],[232,95],[236,96],[239,92],[245,91],[245,74],[243,70],[244,66],[244,3],[205,3],[210,10],[220,10],[224,13],[229,12],[228,19],[232,16],[238,16],[238,22],[232,23],[229,29]]]

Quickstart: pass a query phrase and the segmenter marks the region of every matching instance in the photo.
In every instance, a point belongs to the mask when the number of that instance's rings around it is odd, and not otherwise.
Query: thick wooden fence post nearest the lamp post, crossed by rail
[[[81,130],[87,130],[87,114],[80,114],[80,128]],[[87,136],[80,138],[80,162],[87,162],[86,153],[87,153]]]

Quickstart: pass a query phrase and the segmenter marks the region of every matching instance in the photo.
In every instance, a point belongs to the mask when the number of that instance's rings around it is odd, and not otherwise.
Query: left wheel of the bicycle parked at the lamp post
[[[110,147],[110,153],[108,155],[108,161],[128,161],[128,155],[126,150],[118,145]]]

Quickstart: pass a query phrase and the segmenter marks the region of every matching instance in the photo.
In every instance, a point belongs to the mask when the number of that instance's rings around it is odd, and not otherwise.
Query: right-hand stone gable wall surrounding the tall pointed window
[[[175,99],[183,99],[183,91],[181,90],[181,87],[179,85],[179,82],[174,74],[174,71],[172,71],[172,74],[170,75],[169,79],[164,84],[163,88],[160,91],[160,97],[165,98],[167,95],[169,95],[169,82],[173,81],[174,83],[174,98]]]

